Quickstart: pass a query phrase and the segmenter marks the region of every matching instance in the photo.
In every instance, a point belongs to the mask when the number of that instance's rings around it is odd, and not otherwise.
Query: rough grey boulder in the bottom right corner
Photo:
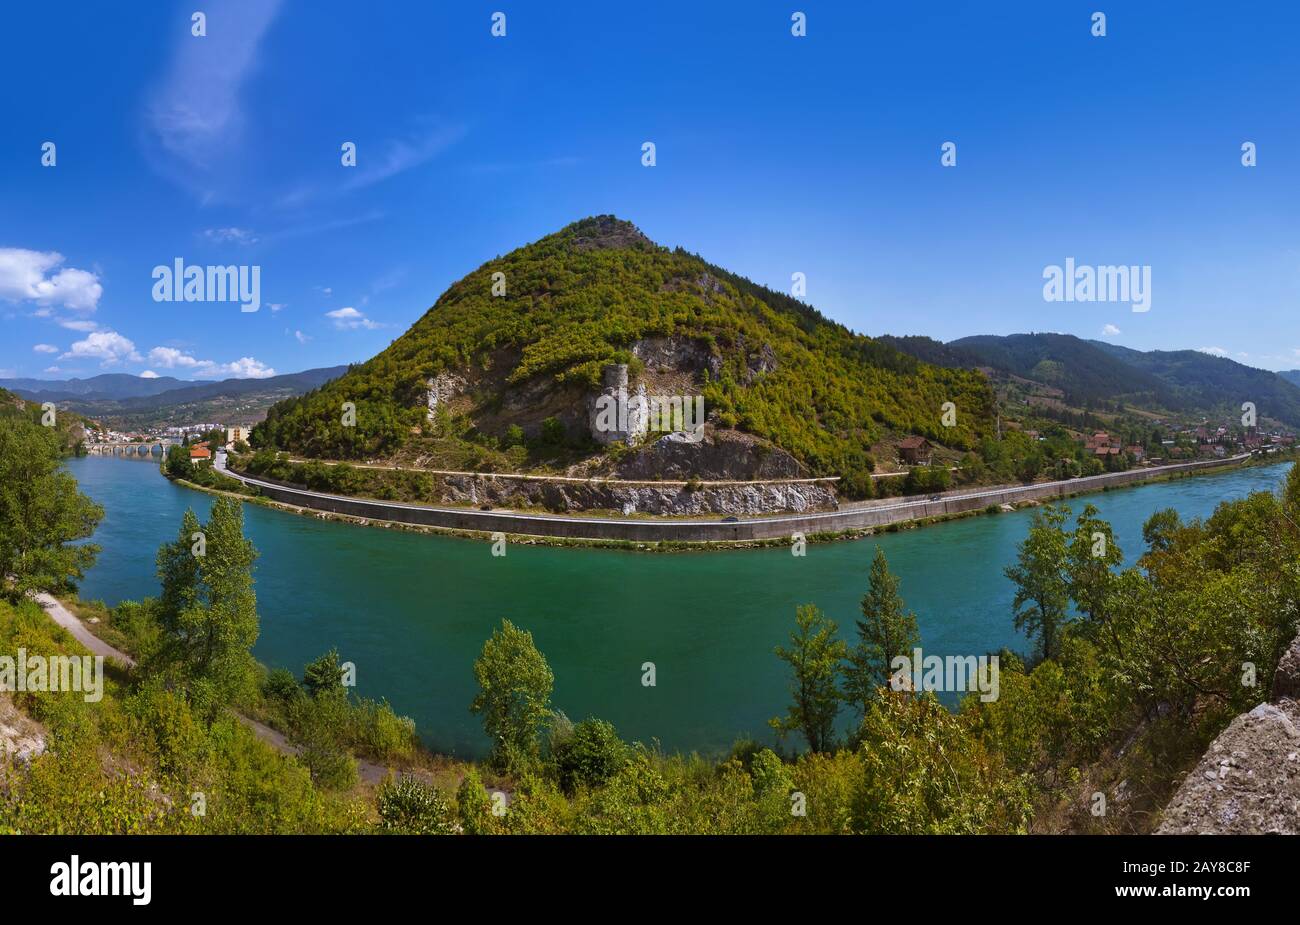
[[[1300,637],[1273,703],[1232,720],[1165,807],[1157,834],[1300,834]]]

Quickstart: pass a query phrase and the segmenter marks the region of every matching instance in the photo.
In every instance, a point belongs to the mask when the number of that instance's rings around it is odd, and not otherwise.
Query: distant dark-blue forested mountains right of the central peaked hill
[[[1300,426],[1300,370],[1273,373],[1201,351],[1136,351],[1070,334],[978,335],[949,343],[920,336],[880,340],[919,360],[996,372],[1061,390],[1066,404],[1121,400],[1182,413],[1258,413]]]

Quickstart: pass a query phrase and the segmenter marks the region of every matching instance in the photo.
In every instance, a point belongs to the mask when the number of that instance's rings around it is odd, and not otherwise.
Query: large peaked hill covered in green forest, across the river
[[[506,294],[494,296],[498,273]],[[815,474],[870,466],[867,447],[889,431],[965,448],[992,430],[978,373],[918,361],[601,216],[454,283],[382,353],[274,405],[254,444],[485,469],[599,466],[624,452],[586,433],[611,362],[628,364],[633,388],[702,394],[710,442],[744,431],[759,438],[757,453],[784,450]],[[433,377],[450,398],[429,420]],[[356,425],[344,427],[348,401]],[[945,401],[956,427],[940,425]]]

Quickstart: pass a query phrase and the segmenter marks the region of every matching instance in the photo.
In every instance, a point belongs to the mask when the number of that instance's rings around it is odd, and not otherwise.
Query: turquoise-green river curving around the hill
[[[176,539],[187,507],[207,518],[212,498],[168,482],[157,463],[88,456],[68,461],[104,505],[103,547],[82,583],[86,600],[157,594],[153,556]],[[1287,465],[1121,488],[1074,499],[1100,508],[1126,559],[1160,508],[1209,514],[1221,500],[1271,491]],[[1011,625],[1002,569],[1024,538],[1027,511],[970,517],[854,542],[789,550],[638,553],[511,546],[321,521],[244,507],[260,551],[261,637],[255,655],[295,673],[337,647],[358,669],[358,690],[415,718],[433,748],[467,757],[488,747],[473,660],[502,618],[533,633],[555,672],[552,700],[577,721],[599,716],[624,738],[670,751],[718,752],[736,738],[770,739],[784,711],[786,670],[772,655],[798,604],[814,603],[848,637],[875,547],[884,548],[918,615],[927,655],[1026,648]],[[653,661],[656,683],[642,685]]]

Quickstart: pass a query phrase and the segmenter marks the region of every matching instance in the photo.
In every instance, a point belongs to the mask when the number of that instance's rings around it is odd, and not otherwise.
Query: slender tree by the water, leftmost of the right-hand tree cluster
[[[1004,570],[1017,585],[1011,604],[1015,629],[1036,640],[1040,659],[1056,659],[1061,652],[1061,630],[1070,603],[1066,535],[1061,525],[1069,513],[1069,508],[1052,504],[1035,511],[1030,534],[1019,544],[1017,564]]]

